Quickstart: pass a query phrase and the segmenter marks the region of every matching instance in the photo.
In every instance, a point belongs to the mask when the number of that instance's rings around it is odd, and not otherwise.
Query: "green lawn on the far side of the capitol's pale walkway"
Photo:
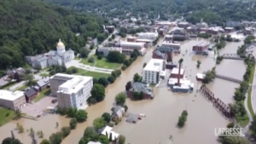
[[[96,67],[102,67],[102,68],[108,68],[108,69],[116,69],[119,66],[121,66],[121,64],[119,64],[119,63],[108,62],[108,60],[106,58],[102,58],[102,60],[98,60],[96,55],[93,55],[93,56],[90,56],[90,57],[94,58],[95,63],[96,63],[95,64]],[[82,59],[81,62],[84,65],[93,66],[94,64],[92,62],[88,62],[90,57],[86,58],[86,59]]]

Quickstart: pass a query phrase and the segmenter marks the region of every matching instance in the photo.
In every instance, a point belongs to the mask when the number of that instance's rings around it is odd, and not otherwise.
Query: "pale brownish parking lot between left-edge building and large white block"
[[[36,102],[36,103],[27,103],[26,107],[21,108],[22,113],[26,113],[26,115],[31,116],[33,118],[41,117],[44,113],[46,107],[56,107],[58,105],[57,102],[52,103],[51,101],[56,99],[55,97],[46,96],[44,99]]]

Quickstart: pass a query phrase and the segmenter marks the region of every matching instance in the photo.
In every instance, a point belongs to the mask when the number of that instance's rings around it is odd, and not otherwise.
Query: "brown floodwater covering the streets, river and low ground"
[[[174,61],[183,58],[183,68],[185,74],[195,84],[195,89],[200,88],[201,83],[196,82],[195,75],[197,72],[204,72],[215,66],[213,57],[195,56],[186,54],[186,49],[191,49],[192,45],[198,43],[196,40],[190,40],[182,45],[182,54],[174,55]],[[242,43],[227,43],[225,49],[220,50],[220,54],[236,53],[236,49]],[[133,75],[141,73],[143,63],[151,59],[153,49],[149,49],[148,53],[143,57],[139,57],[120,78],[117,78],[114,84],[111,84],[106,89],[105,100],[97,103],[94,106],[88,107],[88,119],[82,124],[78,124],[76,130],[72,130],[71,134],[65,138],[62,144],[79,143],[80,138],[84,133],[84,129],[91,125],[93,119],[100,117],[103,112],[111,112],[111,107],[114,104],[114,97],[119,92],[125,90],[125,84],[133,78]],[[196,68],[196,61],[201,60],[201,67]],[[245,66],[239,60],[223,60],[217,66],[218,74],[227,75],[234,78],[242,78],[245,72]],[[162,83],[166,83],[164,80]],[[212,84],[207,87],[212,90],[215,96],[219,97],[225,103],[233,101],[232,96],[234,89],[238,84],[231,83],[222,79],[216,78]],[[138,121],[137,124],[129,124],[125,122],[125,118],[118,125],[114,126],[113,130],[121,135],[125,135],[126,142],[130,144],[168,144],[169,136],[173,136],[174,143],[207,143],[217,144],[217,137],[214,135],[214,128],[222,128],[228,124],[212,104],[205,100],[199,93],[191,94],[174,94],[168,90],[165,84],[160,84],[159,88],[154,88],[154,100],[130,101],[126,100],[129,107],[128,112],[144,113],[146,118]],[[188,120],[183,129],[178,129],[177,119],[183,110],[189,112]],[[55,128],[56,122],[61,126],[68,125],[68,118],[59,115],[47,115],[39,121],[33,121],[26,118],[21,118],[17,121],[12,121],[0,127],[0,141],[3,138],[10,136],[10,130],[15,130],[16,123],[22,124],[26,130],[31,127],[35,130],[43,130],[45,138],[59,130]],[[26,134],[15,135],[24,144],[31,143],[31,138]],[[41,140],[38,140],[41,141]]]

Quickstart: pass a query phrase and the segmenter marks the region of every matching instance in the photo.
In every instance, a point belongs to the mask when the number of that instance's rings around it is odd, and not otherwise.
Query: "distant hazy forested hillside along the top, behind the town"
[[[165,20],[168,14],[184,16],[189,22],[201,19],[208,23],[223,25],[226,20],[256,20],[255,0],[42,0],[71,7],[79,11],[105,11],[108,16],[146,15]],[[114,10],[113,10],[114,9]]]

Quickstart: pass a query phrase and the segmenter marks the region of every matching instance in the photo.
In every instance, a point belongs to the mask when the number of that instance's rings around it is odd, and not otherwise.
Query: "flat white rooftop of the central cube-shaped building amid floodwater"
[[[164,60],[151,59],[148,61],[147,66],[143,68],[143,71],[160,72],[162,70]]]

